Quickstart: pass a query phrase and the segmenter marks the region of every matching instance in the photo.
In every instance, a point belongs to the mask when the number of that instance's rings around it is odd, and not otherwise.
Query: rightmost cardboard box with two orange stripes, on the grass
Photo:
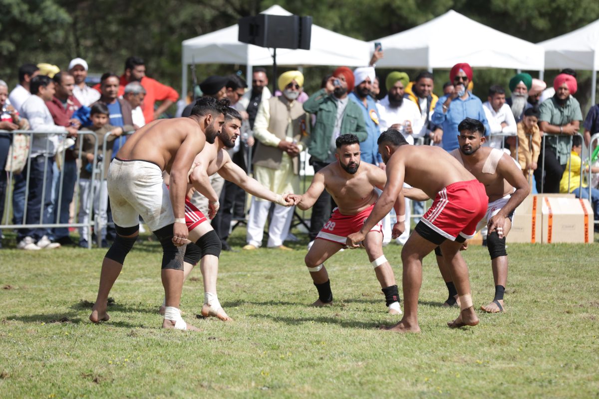
[[[541,241],[593,242],[593,211],[588,199],[543,197]]]

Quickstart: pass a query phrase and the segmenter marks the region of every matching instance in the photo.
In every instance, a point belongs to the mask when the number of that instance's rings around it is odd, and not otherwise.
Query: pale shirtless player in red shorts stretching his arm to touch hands
[[[232,162],[228,148],[235,146],[235,139],[240,135],[241,115],[233,108],[227,109],[225,114],[225,124],[218,134],[214,144],[206,144],[204,150],[193,160],[193,170],[189,176],[193,188],[187,193],[185,199],[185,222],[189,229],[190,243],[185,248],[183,257],[183,281],[187,279],[193,267],[199,261],[199,269],[204,278],[204,304],[201,314],[204,317],[216,316],[222,321],[230,321],[231,318],[220,306],[216,295],[216,278],[219,270],[220,239],[210,225],[210,221],[195,207],[189,198],[193,190],[208,199],[209,214],[208,218],[214,218],[218,211],[218,196],[210,184],[209,177],[214,173],[219,173],[225,180],[237,184],[247,193],[253,196],[270,200],[283,206],[292,206],[292,200],[286,201],[286,195],[275,194],[265,188],[255,179],[247,176],[241,167]],[[168,175],[165,177],[167,181]],[[168,184],[168,181],[167,181]],[[164,313],[164,304],[161,306],[160,313]]]

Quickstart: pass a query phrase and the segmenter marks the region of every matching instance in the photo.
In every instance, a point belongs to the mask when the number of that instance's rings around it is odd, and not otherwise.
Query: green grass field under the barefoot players
[[[231,243],[240,249],[244,230]],[[595,237],[597,241],[597,237]],[[327,263],[335,304],[307,305],[316,289],[294,252],[221,257],[219,299],[234,322],[199,320],[199,270],[181,308],[200,333],[164,331],[160,251],[129,254],[108,309],[87,321],[105,250],[0,251],[0,397],[598,397],[599,269],[592,245],[509,245],[506,313],[449,330],[458,314],[434,258],[425,258],[421,334],[380,331],[386,313],[362,250]],[[401,287],[401,247],[387,246]],[[476,306],[494,288],[486,248],[471,246]],[[400,291],[401,292],[401,291]]]

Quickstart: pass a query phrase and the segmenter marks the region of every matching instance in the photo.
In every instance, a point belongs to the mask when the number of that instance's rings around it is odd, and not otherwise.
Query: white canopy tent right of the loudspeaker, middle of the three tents
[[[422,25],[380,42],[385,58],[377,66],[386,68],[452,68],[460,62],[479,68],[543,71],[540,45],[496,31],[449,10]]]

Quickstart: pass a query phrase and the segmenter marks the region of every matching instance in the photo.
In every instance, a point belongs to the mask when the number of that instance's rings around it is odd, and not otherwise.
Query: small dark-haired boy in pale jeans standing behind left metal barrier
[[[107,224],[107,207],[108,207],[108,191],[106,188],[106,178],[108,176],[108,166],[110,166],[110,160],[112,158],[113,142],[114,139],[122,135],[124,132],[134,130],[135,128],[131,125],[125,125],[122,127],[114,127],[108,124],[108,107],[104,103],[96,102],[90,111],[90,119],[92,120],[92,126],[88,129],[96,133],[93,135],[80,135],[81,148],[78,144],[75,145],[75,157],[81,155],[81,175],[79,178],[79,194],[80,194],[80,206],[78,223],[89,223],[90,215],[93,214],[96,220],[96,226],[100,227],[100,231],[96,234],[100,234],[102,240],[102,248],[107,247],[106,241],[106,224]],[[97,139],[96,139],[97,137]],[[106,151],[102,153],[102,145],[106,140]],[[98,156],[95,157],[93,149],[95,148],[96,141],[98,142]],[[80,154],[79,154],[80,153]],[[93,180],[92,187],[92,171],[96,165],[104,166],[104,179],[101,179],[101,169],[96,169],[95,179]],[[87,248],[89,242],[89,234],[87,227],[79,227],[79,246]]]

